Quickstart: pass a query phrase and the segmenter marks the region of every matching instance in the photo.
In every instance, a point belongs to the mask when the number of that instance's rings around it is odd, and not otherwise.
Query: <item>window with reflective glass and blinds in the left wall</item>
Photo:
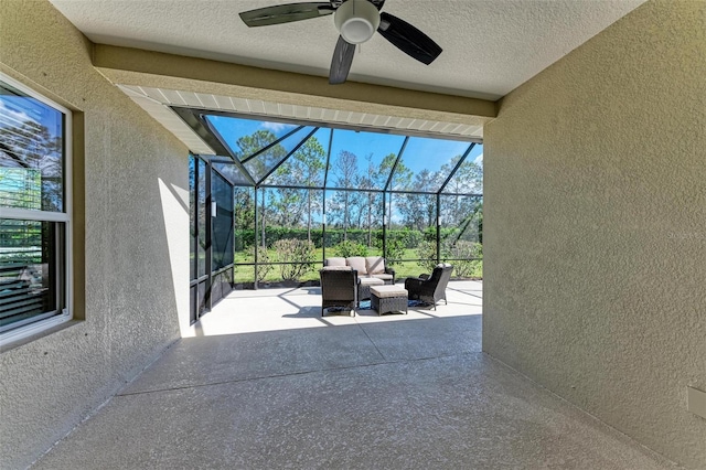
[[[0,341],[69,314],[71,113],[0,74]]]

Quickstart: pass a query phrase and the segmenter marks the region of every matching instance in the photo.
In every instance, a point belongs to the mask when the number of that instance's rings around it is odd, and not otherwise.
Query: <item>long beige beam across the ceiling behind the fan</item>
[[[315,106],[353,113],[483,126],[494,102],[258,68],[183,55],[94,44],[93,64],[115,84]]]

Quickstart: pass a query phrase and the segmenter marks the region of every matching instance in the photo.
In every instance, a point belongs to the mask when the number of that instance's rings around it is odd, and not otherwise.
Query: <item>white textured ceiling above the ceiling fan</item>
[[[333,17],[248,29],[239,11],[292,0],[50,0],[92,41],[327,76]],[[431,36],[431,65],[376,34],[350,81],[498,99],[644,0],[387,0]]]

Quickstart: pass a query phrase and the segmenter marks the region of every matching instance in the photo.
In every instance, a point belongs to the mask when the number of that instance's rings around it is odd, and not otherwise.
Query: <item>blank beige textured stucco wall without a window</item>
[[[706,2],[650,1],[485,128],[483,350],[706,468]]]

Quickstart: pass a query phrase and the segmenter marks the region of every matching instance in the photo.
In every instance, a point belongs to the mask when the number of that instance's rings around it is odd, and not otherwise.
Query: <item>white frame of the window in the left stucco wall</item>
[[[0,82],[3,82],[11,87],[18,89],[21,93],[30,96],[33,99],[42,103],[45,106],[58,111],[63,116],[62,122],[62,179],[63,179],[63,211],[52,212],[31,209],[18,209],[18,207],[0,207],[0,218],[21,220],[21,221],[36,221],[36,222],[51,222],[56,224],[63,224],[64,239],[56,241],[63,246],[56,246],[57,253],[63,254],[63,260],[57,266],[60,270],[57,281],[57,293],[61,293],[62,280],[63,280],[63,305],[58,306],[60,312],[52,314],[50,318],[39,318],[35,321],[26,324],[19,325],[4,332],[0,332],[0,345],[7,346],[17,341],[21,341],[42,333],[50,328],[54,328],[73,319],[74,311],[74,289],[73,289],[73,113],[60,105],[58,103],[47,98],[30,86],[18,82],[17,79],[0,72]],[[43,312],[38,317],[42,317],[49,312]]]

